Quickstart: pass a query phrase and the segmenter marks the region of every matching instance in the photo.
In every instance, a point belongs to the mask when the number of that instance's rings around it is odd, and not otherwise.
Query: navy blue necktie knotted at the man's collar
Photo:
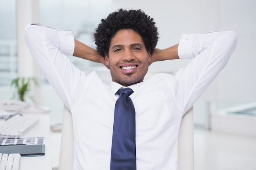
[[[135,108],[130,88],[117,91],[110,170],[136,170]]]

